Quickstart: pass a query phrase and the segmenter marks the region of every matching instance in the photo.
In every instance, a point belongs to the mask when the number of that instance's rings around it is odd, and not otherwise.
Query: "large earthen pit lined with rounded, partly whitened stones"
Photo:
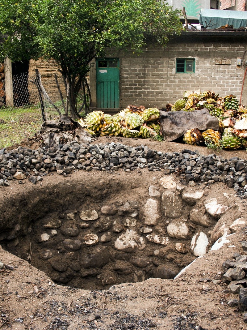
[[[217,183],[143,180],[85,175],[83,183],[73,179],[16,194],[0,210],[0,244],[58,283],[101,289],[174,278],[239,221],[234,194],[214,197]]]

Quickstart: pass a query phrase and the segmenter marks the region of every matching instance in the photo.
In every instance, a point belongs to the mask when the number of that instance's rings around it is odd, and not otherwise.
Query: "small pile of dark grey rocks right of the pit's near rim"
[[[247,250],[247,242],[241,243]],[[247,255],[234,253],[234,261],[226,260],[223,263],[222,281],[228,283],[230,292],[238,294],[238,299],[231,299],[228,306],[237,307],[243,312],[243,320],[247,322]]]

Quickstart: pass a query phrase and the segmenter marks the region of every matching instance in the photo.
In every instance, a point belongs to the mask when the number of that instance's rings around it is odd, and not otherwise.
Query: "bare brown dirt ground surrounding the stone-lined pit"
[[[188,146],[174,142],[158,142],[143,139],[126,139],[120,137],[100,137],[92,143],[117,142],[131,146],[145,144],[151,149],[163,152],[181,151],[182,149],[199,150],[201,154],[216,153],[224,158],[234,156],[246,159],[245,150],[212,151],[205,147]],[[23,143],[27,145],[27,143]],[[37,148],[38,144],[30,144]],[[141,173],[140,173],[141,172]],[[51,184],[58,180],[73,180],[83,177],[85,172],[79,171],[64,178],[48,175],[42,182]],[[87,173],[94,180],[103,180],[111,174]],[[125,181],[138,181],[151,178],[149,171],[118,171],[113,176]],[[153,176],[153,174],[152,174]],[[9,187],[1,187],[0,205],[5,198],[15,193],[20,195],[31,187],[25,184],[11,183]],[[36,187],[36,186],[35,186]],[[214,184],[215,197],[220,198],[224,190],[234,195],[223,183]],[[37,185],[36,189],[39,189]],[[140,189],[142,187],[140,186]],[[246,219],[246,200],[235,196],[239,206],[239,214]],[[11,205],[10,205],[11,208]],[[238,215],[239,215],[238,214]],[[223,330],[247,329],[242,319],[242,312],[237,307],[229,307],[228,301],[238,299],[227,290],[227,284],[220,280],[222,263],[231,259],[233,253],[244,254],[241,242],[246,240],[246,228],[238,228],[228,243],[217,250],[197,258],[187,270],[176,280],[151,278],[140,283],[123,283],[103,291],[87,291],[55,284],[43,272],[32,267],[27,261],[0,248],[0,262],[5,268],[0,270],[0,328],[3,330],[142,330],[142,329],[196,329]],[[7,266],[6,266],[7,265]],[[9,267],[9,266],[12,267]]]

